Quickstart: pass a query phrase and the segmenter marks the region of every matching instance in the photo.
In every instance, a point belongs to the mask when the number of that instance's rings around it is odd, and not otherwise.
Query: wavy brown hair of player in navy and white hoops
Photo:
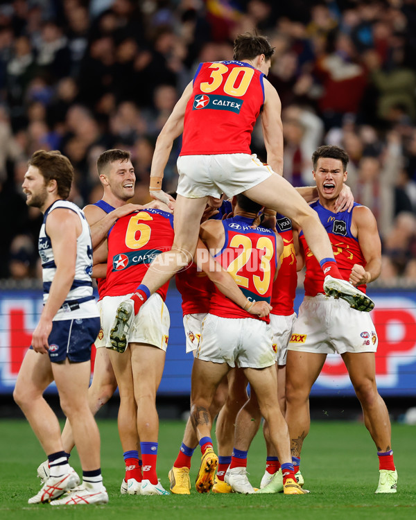
[[[28,166],[35,166],[44,177],[45,184],[55,180],[58,186],[58,196],[67,199],[73,179],[73,166],[68,157],[65,157],[58,150],[46,152],[37,150],[33,153],[28,162]]]

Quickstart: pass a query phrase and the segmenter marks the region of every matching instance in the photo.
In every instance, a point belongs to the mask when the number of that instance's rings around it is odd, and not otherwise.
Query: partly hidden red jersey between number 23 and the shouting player
[[[290,218],[277,214],[276,229],[283,239],[283,254],[277,278],[273,282],[272,301],[270,305],[273,309],[271,314],[279,316],[291,316],[293,300],[296,296],[297,271],[296,271],[296,252],[293,245],[293,229]]]

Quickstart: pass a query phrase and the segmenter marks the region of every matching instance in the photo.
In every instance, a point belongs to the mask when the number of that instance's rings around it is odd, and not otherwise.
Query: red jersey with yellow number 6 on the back
[[[107,243],[107,284],[103,296],[134,293],[153,259],[171,250],[173,215],[150,208],[125,215],[110,229]],[[157,291],[163,300],[168,285],[167,281]]]

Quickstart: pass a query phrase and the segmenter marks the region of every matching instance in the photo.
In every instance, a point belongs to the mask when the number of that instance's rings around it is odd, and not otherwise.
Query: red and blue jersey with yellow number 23
[[[252,218],[235,216],[223,220],[225,243],[216,254],[218,261],[252,302],[270,303],[277,268],[276,235],[271,229],[252,229]],[[257,318],[229,300],[217,288],[211,296],[209,313],[223,318]],[[270,322],[266,318],[257,318]]]

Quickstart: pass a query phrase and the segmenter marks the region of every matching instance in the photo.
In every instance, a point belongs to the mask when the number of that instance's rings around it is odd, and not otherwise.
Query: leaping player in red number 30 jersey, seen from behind
[[[176,254],[157,258],[132,300],[123,303],[123,311],[137,313],[150,294],[193,259],[207,197],[219,197],[221,193],[245,193],[251,200],[294,220],[302,227],[328,276],[325,288],[336,290],[341,298],[353,296],[349,302],[354,307],[372,305],[340,276],[318,216],[291,184],[275,175],[283,166],[283,136],[280,99],[265,78],[273,53],[265,37],[239,35],[234,42],[234,60],[201,64],[175,105],[157,138],[150,194],[169,203],[162,191],[163,172],[173,141],[183,132],[177,160],[180,179],[173,247]],[[260,114],[269,166],[250,153],[252,129]]]

